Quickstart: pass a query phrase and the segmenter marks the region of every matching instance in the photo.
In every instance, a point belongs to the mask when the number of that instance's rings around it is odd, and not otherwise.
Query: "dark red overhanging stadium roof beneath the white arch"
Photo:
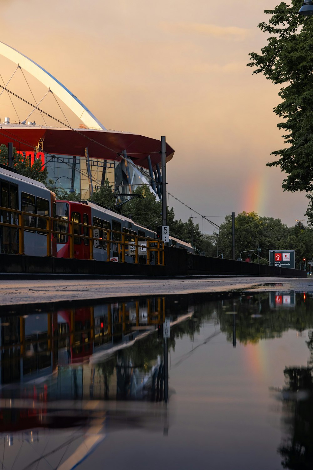
[[[102,131],[93,129],[65,129],[37,125],[6,124],[0,128],[0,144],[13,142],[16,150],[33,151],[43,140],[43,151],[53,155],[85,156],[88,147],[90,158],[120,160],[125,149],[133,162],[148,168],[150,155],[153,169],[161,161],[161,142],[143,135],[128,132]],[[167,162],[173,158],[174,150],[166,144]]]

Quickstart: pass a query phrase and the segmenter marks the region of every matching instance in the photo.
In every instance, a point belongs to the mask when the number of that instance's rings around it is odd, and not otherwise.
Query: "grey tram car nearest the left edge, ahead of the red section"
[[[36,215],[55,217],[55,194],[42,183],[9,171],[0,165],[0,221],[12,227],[0,227],[0,252],[19,252],[19,224],[16,211],[27,212],[23,216],[24,252],[27,255],[46,256],[46,219]],[[41,230],[40,230],[41,229]],[[56,239],[52,238],[52,255],[56,256]]]

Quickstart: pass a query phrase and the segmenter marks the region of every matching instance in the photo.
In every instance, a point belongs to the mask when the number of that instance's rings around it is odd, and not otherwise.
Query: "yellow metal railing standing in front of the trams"
[[[8,227],[10,229],[17,229],[19,233],[18,237],[18,247],[19,251],[17,254],[24,254],[24,230],[30,232],[40,232],[41,234],[46,234],[46,246],[47,246],[47,256],[52,256],[51,241],[53,236],[57,235],[66,235],[69,236],[69,258],[74,258],[74,239],[88,240],[89,244],[89,259],[93,259],[93,242],[97,243],[106,243],[107,247],[107,261],[110,261],[111,251],[117,251],[122,259],[122,262],[125,262],[125,255],[132,256],[134,258],[134,263],[138,263],[138,257],[140,255],[145,255],[146,264],[150,264],[152,254],[156,252],[157,256],[155,259],[156,265],[164,265],[164,243],[160,240],[155,240],[152,238],[140,236],[140,235],[130,235],[128,233],[119,232],[117,230],[99,228],[98,226],[87,225],[78,223],[73,220],[64,220],[60,218],[34,214],[30,212],[18,211],[16,209],[10,209],[8,207],[0,207],[0,211],[6,211],[8,213],[15,213],[18,216],[18,224],[0,222],[0,227]],[[36,219],[41,219],[43,222],[46,221],[46,228],[25,226],[24,217],[31,217]],[[17,220],[17,219],[16,219]],[[62,224],[67,224],[67,231],[55,230],[56,222],[61,222]],[[53,227],[53,228],[52,228]],[[75,233],[77,227],[83,227],[88,229],[89,235],[81,235],[80,233]],[[106,233],[106,238],[95,237],[94,231],[103,231]],[[79,228],[81,231],[81,228]],[[112,235],[111,235],[112,234]],[[129,240],[129,238],[132,240]],[[130,250],[135,251],[130,254]]]

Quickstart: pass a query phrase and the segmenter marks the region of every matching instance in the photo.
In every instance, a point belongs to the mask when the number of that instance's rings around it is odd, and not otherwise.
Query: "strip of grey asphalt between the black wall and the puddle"
[[[313,277],[313,276],[312,276]],[[231,290],[312,292],[313,278],[226,277],[197,279],[0,280],[0,305],[26,305],[130,296]]]

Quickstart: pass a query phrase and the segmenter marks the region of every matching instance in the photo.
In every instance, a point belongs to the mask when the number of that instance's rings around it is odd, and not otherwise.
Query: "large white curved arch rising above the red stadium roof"
[[[10,61],[19,65],[23,70],[28,71],[33,77],[37,78],[43,85],[49,88],[53,94],[58,96],[61,101],[72,110],[76,116],[86,125],[99,130],[106,130],[103,124],[78,100],[78,98],[62,85],[59,80],[53,77],[49,72],[40,67],[38,63],[18,52],[13,47],[0,41],[0,55],[3,55]]]

